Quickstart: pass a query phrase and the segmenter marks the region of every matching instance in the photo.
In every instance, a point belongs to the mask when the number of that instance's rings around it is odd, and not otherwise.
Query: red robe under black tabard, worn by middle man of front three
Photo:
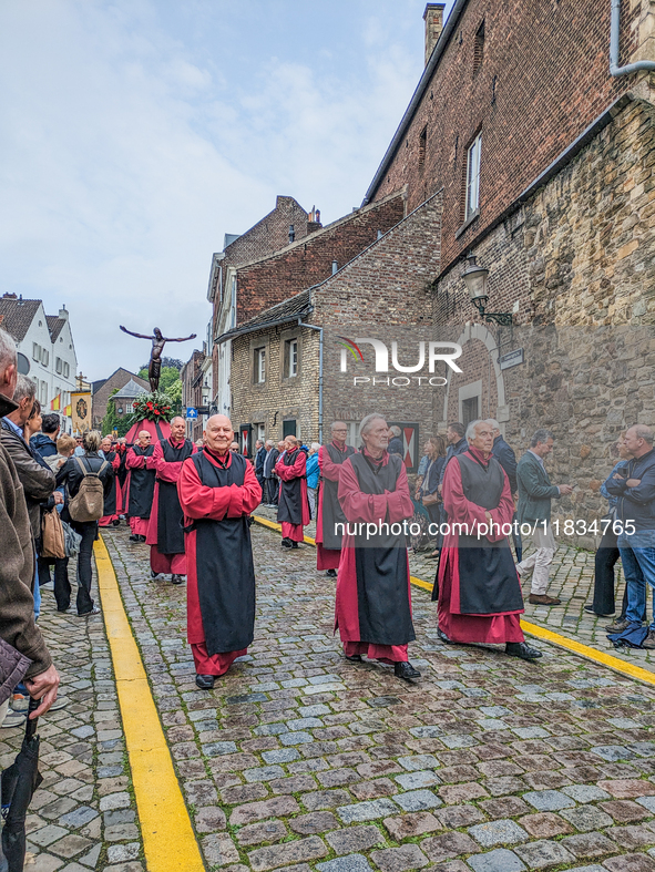
[[[389,463],[389,454],[385,452],[382,464]],[[339,475],[339,502],[344,509],[344,514],[348,522],[379,523],[388,524],[402,523],[410,519],[413,513],[413,503],[409,494],[407,471],[401,466],[396,490],[386,491],[383,494],[364,493],[359,486],[359,480],[350,458],[341,464]],[[411,612],[411,587],[409,581],[409,558],[406,551],[407,565],[407,597]],[[335,603],[335,632],[339,628],[339,635],[344,643],[344,652],[347,657],[355,654],[365,654],[370,659],[382,660],[383,663],[397,663],[408,659],[408,646],[401,645],[379,645],[361,642],[359,627],[359,598],[357,588],[356,548],[354,536],[344,535],[341,545],[341,558],[339,562],[339,575],[337,578],[337,597]]]

